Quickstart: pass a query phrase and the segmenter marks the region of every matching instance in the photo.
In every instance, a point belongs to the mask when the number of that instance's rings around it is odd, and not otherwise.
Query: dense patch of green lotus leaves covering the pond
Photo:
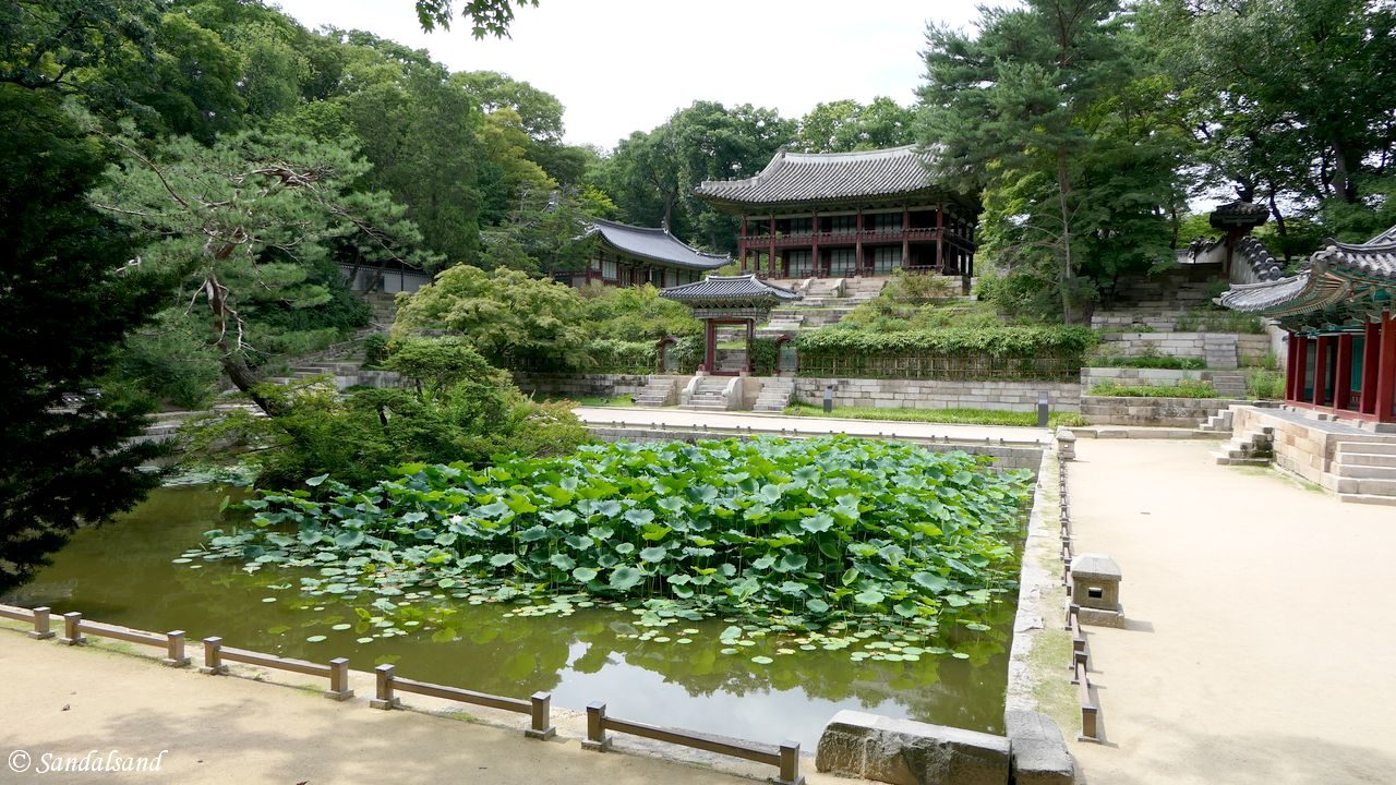
[[[207,556],[341,567],[302,585],[343,596],[448,580],[498,598],[642,598],[655,616],[930,636],[1016,582],[1032,478],[986,462],[824,437],[607,444],[487,469],[413,464],[373,486],[313,478],[325,501],[264,493],[248,504],[260,529],[219,532]]]

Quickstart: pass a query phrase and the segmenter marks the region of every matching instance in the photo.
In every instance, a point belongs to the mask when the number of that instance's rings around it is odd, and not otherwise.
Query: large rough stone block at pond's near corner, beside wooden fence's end
[[[892,785],[1007,785],[1009,753],[1004,736],[845,710],[819,736],[814,765]]]

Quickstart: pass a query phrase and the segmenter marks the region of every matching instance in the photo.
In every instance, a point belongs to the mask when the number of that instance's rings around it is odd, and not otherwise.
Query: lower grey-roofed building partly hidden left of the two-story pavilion
[[[554,272],[554,279],[572,286],[596,281],[610,286],[653,284],[663,289],[692,284],[705,272],[732,263],[730,256],[704,253],[664,229],[646,229],[596,218],[588,226],[586,236],[596,237],[596,250],[586,270]]]

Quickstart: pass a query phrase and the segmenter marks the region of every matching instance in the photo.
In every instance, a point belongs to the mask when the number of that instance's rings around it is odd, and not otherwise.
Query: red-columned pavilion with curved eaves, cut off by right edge
[[[1219,298],[1289,332],[1284,399],[1374,423],[1396,423],[1396,226],[1367,243],[1314,254],[1298,275],[1234,285]]]

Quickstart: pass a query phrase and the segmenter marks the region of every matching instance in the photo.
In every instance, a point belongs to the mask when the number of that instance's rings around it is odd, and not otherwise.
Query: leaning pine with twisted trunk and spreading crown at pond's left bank
[[[148,156],[134,141],[113,141],[128,161],[94,203],[161,237],[147,260],[183,281],[170,305],[202,303],[223,373],[268,413],[275,401],[257,388],[258,366],[311,348],[315,332],[328,342],[327,311],[350,302],[331,257],[336,243],[362,237],[410,263],[406,249],[420,240],[387,194],[353,190],[369,165],[343,145],[243,133],[212,147],[166,140]],[[324,318],[300,318],[310,309]]]

